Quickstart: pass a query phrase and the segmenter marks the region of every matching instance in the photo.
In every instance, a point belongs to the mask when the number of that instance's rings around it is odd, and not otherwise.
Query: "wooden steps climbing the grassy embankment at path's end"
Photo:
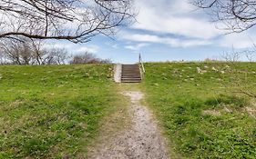
[[[122,65],[122,83],[140,83],[141,75],[139,65]]]

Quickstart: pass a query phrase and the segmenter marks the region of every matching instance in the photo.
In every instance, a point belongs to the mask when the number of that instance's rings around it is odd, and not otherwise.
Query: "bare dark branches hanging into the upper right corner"
[[[210,11],[231,32],[242,32],[256,25],[255,0],[192,0],[193,4]]]

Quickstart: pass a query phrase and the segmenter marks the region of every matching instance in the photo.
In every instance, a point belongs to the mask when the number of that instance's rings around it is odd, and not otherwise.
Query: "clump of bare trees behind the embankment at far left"
[[[0,41],[2,61],[13,65],[64,65],[69,58],[64,48],[43,48],[40,40],[23,38]]]

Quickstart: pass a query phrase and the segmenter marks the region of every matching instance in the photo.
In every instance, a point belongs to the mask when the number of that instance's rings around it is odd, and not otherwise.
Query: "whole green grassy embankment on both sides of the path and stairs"
[[[117,85],[112,65],[0,66],[0,158],[84,158],[129,87],[146,94],[178,158],[255,158],[256,101],[244,93],[256,94],[256,64],[145,67],[142,84]]]

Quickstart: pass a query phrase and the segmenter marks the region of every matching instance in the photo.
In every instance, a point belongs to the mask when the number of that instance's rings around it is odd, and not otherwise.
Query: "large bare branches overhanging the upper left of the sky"
[[[85,43],[128,25],[132,0],[1,0],[0,38],[66,39]]]

